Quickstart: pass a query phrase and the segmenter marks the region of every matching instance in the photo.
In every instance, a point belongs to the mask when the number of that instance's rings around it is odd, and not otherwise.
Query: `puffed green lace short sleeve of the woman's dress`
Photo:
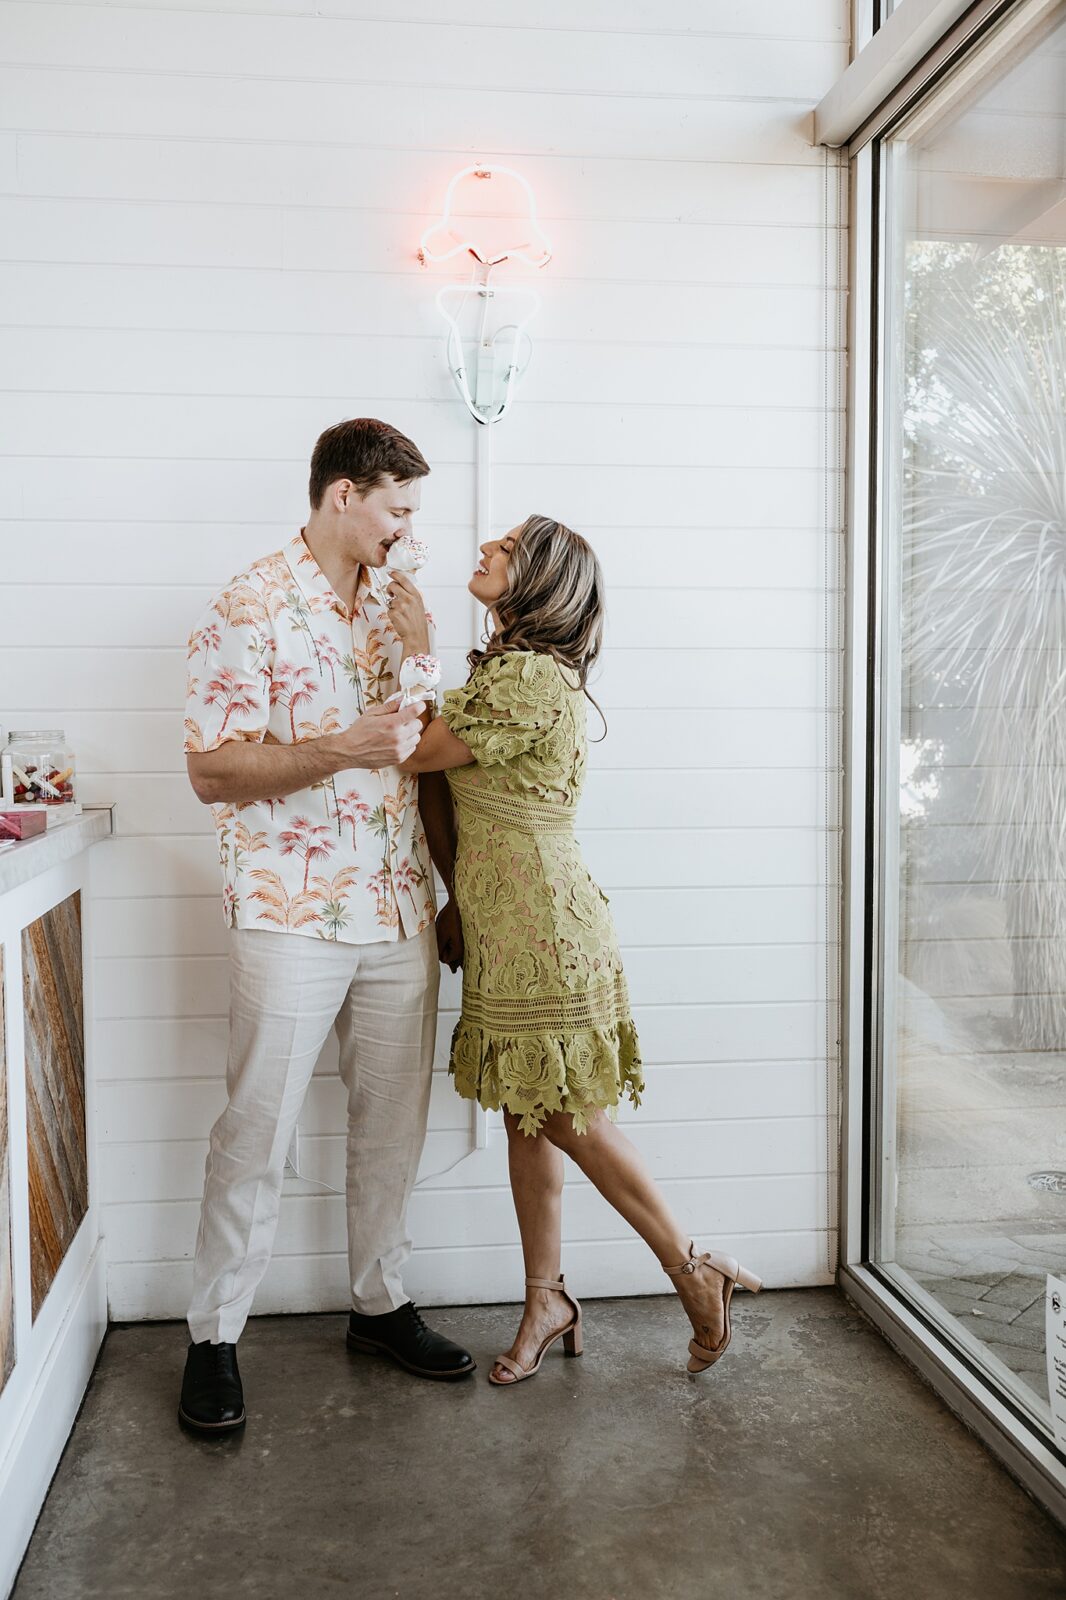
[[[509,651],[483,661],[461,690],[448,690],[440,715],[479,766],[495,766],[543,744],[568,693],[551,656]]]

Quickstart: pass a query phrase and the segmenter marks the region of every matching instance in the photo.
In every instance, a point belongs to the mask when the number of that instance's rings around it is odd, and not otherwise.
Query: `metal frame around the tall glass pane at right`
[[[917,0],[925,5],[925,0]],[[896,88],[895,110],[871,134],[856,126],[850,149],[852,229],[848,238],[848,442],[847,442],[847,584],[845,584],[845,730],[844,730],[844,906],[842,906],[842,1139],[840,1266],[837,1283],[888,1341],[919,1370],[1008,1470],[1066,1523],[1066,1454],[1034,1413],[1000,1390],[967,1350],[967,1336],[951,1331],[949,1314],[906,1274],[877,1264],[874,1229],[892,1213],[885,1202],[887,1099],[882,1042],[888,1000],[882,994],[884,954],[892,938],[885,886],[892,875],[885,795],[898,723],[885,694],[896,693],[885,672],[890,618],[885,614],[885,538],[888,528],[888,395],[895,323],[888,296],[890,189],[901,147],[892,136],[904,118],[936,94],[951,102],[989,66],[1005,59],[1052,14],[1058,0],[978,0],[983,26],[965,34],[965,48],[927,56],[924,72]],[[901,0],[901,16],[912,0]],[[855,10],[863,8],[858,0]],[[996,37],[991,30],[999,29]],[[954,30],[952,30],[954,32]],[[852,70],[852,69],[848,69]],[[946,74],[954,72],[949,83]],[[941,88],[943,85],[943,88]],[[898,840],[896,840],[898,845]],[[895,891],[893,891],[895,893]],[[895,1118],[895,1110],[893,1110]]]

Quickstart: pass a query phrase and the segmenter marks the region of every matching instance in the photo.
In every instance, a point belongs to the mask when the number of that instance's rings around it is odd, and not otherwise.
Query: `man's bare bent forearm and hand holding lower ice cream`
[[[303,744],[230,739],[186,757],[189,782],[205,805],[275,800],[362,766],[402,766],[423,731],[421,707],[371,706],[341,733]]]

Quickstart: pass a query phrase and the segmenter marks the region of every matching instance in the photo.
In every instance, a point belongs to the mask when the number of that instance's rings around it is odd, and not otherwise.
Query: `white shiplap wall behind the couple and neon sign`
[[[583,837],[650,1062],[626,1126],[698,1238],[770,1283],[826,1282],[839,301],[808,112],[847,64],[847,3],[680,0],[669,26],[653,0],[544,0],[536,26],[515,0],[381,10],[0,6],[0,717],[62,723],[86,797],[118,802],[94,859],[112,1315],[184,1310],[222,1102],[226,939],[181,757],[182,645],[299,525],[311,446],[341,416],[389,418],[434,464],[419,531],[459,680],[474,424],[413,253],[472,157],[520,166],[555,250],[495,438],[498,525],[552,512],[610,581]],[[442,1066],[456,994],[448,978]],[[336,1186],[341,1130],[323,1059],[301,1160]],[[440,1077],[419,1299],[520,1294],[503,1134],[461,1160],[469,1133]],[[341,1202],[291,1187],[258,1309],[343,1306]],[[664,1282],[578,1181],[565,1264],[589,1294]]]

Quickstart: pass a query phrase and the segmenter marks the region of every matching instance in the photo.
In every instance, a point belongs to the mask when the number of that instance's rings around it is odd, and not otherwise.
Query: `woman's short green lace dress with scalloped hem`
[[[466,946],[455,1086],[538,1133],[640,1102],[640,1048],[607,896],[575,838],[586,770],[584,694],[551,656],[490,656],[442,715],[475,757],[448,773]]]

